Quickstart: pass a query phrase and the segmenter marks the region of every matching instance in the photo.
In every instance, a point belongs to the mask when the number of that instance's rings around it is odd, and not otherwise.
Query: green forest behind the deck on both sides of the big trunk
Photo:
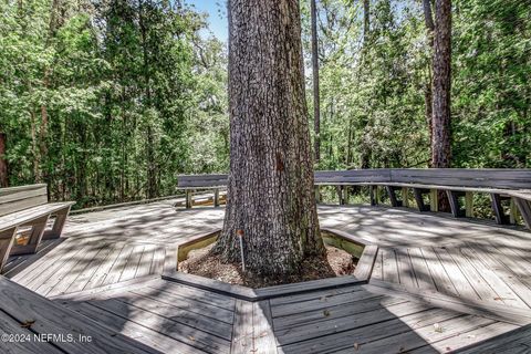
[[[423,1],[316,4],[315,169],[429,167]],[[301,13],[313,126],[309,1]],[[45,183],[83,208],[228,170],[227,45],[194,6],[4,0],[0,15],[1,186]],[[529,0],[452,1],[451,167],[531,167],[530,19]]]

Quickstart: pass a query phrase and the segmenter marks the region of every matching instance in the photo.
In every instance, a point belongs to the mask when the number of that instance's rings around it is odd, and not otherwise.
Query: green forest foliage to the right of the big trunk
[[[362,1],[319,1],[317,168],[427,167],[431,52],[421,2],[369,3],[364,38]],[[529,167],[531,7],[517,0],[454,3],[452,165]],[[310,67],[308,8],[303,2]]]

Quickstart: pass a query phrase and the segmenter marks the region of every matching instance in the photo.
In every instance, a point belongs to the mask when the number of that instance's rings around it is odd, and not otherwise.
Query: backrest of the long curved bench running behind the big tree
[[[188,175],[178,177],[178,186],[179,188],[223,187],[227,186],[227,175]],[[531,189],[531,169],[375,168],[315,171],[316,185],[372,183]]]

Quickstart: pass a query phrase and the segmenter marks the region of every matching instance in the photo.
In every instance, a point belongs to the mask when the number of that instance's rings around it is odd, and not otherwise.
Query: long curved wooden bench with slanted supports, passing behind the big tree
[[[368,186],[373,206],[379,200],[378,187],[385,188],[393,207],[408,207],[408,190],[412,189],[418,210],[438,211],[438,191],[442,190],[448,196],[451,212],[456,218],[472,217],[472,194],[487,194],[490,196],[498,223],[514,221],[518,208],[527,227],[531,229],[531,169],[377,168],[320,170],[315,171],[314,176],[316,197],[320,195],[320,186],[335,186],[340,205],[346,202],[348,186]],[[227,175],[180,176],[179,188],[188,191],[187,208],[191,207],[190,189],[225,188],[227,178]],[[397,195],[397,190],[402,191],[402,197]],[[429,196],[429,205],[424,201],[426,195]],[[459,201],[460,197],[465,197],[464,204]],[[511,201],[509,217],[501,206],[504,199]]]

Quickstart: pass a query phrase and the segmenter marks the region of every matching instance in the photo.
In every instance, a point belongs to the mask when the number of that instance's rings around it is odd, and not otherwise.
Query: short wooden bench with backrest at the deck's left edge
[[[41,240],[59,238],[73,204],[49,204],[46,185],[0,188],[0,272],[10,254],[34,253]],[[15,244],[18,232],[27,236],[25,244]]]

